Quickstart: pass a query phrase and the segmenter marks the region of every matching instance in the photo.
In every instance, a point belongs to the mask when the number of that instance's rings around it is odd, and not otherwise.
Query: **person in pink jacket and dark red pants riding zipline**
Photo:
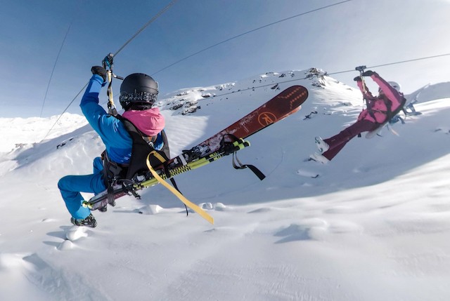
[[[321,152],[311,154],[310,159],[321,163],[328,163],[340,150],[345,147],[349,140],[363,132],[375,131],[379,126],[392,117],[392,112],[399,108],[403,99],[403,94],[399,91],[399,84],[387,82],[376,72],[368,70],[362,74],[370,76],[378,84],[378,96],[373,96],[362,81],[360,76],[354,80],[358,84],[363,98],[366,100],[367,107],[358,116],[358,120],[345,130],[334,135],[331,138],[324,139],[316,137],[316,146]]]

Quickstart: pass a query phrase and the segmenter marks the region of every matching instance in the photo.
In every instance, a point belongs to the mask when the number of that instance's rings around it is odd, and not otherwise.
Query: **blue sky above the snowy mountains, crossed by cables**
[[[39,116],[55,63],[42,116],[63,112],[88,81],[91,66],[169,2],[6,1],[0,11],[0,117]],[[240,36],[154,74],[233,36],[338,2],[179,0],[117,55],[115,73],[153,74],[163,96],[265,72],[318,67],[333,73],[450,53],[450,1],[352,0]],[[449,81],[449,65],[450,56],[444,56],[374,70],[411,93]],[[356,75],[333,77],[354,86]],[[115,81],[116,96],[119,85]],[[79,113],[78,103],[68,112]]]

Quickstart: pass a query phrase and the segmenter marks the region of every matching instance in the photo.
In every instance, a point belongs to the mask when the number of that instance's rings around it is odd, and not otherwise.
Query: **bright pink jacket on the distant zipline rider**
[[[401,104],[401,99],[403,95],[399,91],[395,90],[390,86],[387,81],[385,81],[376,72],[373,72],[371,79],[380,86],[381,91],[384,95],[373,96],[368,88],[364,91],[362,81],[357,81],[358,87],[363,93],[364,99],[367,100],[367,109],[364,109],[358,116],[358,120],[368,120],[376,123],[384,123],[387,118],[387,106],[390,105],[390,111],[394,111]]]

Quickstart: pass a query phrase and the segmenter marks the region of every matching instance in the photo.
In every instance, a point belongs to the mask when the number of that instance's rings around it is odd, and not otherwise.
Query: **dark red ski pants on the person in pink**
[[[338,135],[334,135],[331,138],[323,140],[330,146],[330,148],[322,155],[328,160],[333,159],[338,152],[340,152],[342,147],[345,147],[347,142],[352,140],[352,138],[356,135],[363,132],[373,131],[375,128],[378,128],[378,126],[380,126],[378,123],[374,123],[366,119],[356,121],[348,128],[345,128],[345,130],[340,132]]]

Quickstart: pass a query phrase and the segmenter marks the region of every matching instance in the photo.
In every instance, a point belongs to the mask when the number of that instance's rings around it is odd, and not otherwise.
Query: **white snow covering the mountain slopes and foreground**
[[[450,300],[450,83],[417,87],[421,115],[326,166],[305,161],[314,137],[363,102],[322,70],[186,88],[158,102],[172,156],[296,84],[302,109],[238,152],[265,180],[231,157],[176,178],[215,225],[157,185],[73,227],[57,182],[91,173],[98,135],[74,114],[46,140],[58,116],[0,119],[0,300]]]

